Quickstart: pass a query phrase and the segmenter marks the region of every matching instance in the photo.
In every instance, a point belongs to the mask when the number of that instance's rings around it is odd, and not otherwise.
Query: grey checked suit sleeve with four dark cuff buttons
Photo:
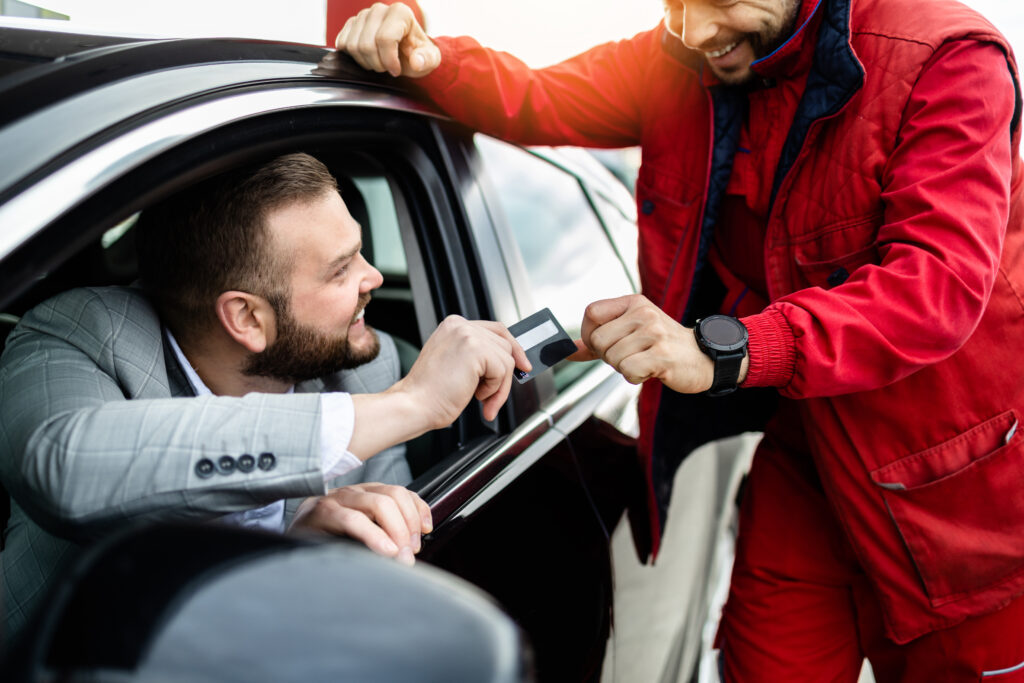
[[[30,311],[0,366],[0,476],[37,522],[89,538],[126,520],[207,519],[324,493],[316,394],[129,400],[170,396],[152,386],[166,382],[159,325],[139,344],[144,326],[89,292]],[[198,467],[244,454],[271,458],[250,472]]]

